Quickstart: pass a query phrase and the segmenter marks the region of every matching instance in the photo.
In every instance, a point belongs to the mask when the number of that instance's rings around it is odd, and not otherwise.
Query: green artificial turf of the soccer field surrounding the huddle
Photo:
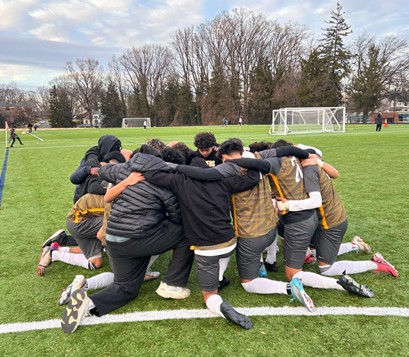
[[[57,262],[37,276],[41,243],[64,227],[72,206],[74,186],[69,176],[84,152],[100,136],[118,136],[124,148],[134,149],[147,139],[184,141],[192,146],[200,131],[212,131],[219,142],[240,137],[245,145],[270,140],[268,126],[172,127],[143,129],[44,130],[21,135],[8,151],[0,208],[0,328],[4,324],[58,319],[61,290],[76,274],[92,276],[109,271],[108,261],[97,271]],[[3,135],[3,137],[1,137]],[[374,290],[374,299],[341,291],[307,288],[318,311],[323,307],[409,308],[407,237],[409,200],[409,125],[389,125],[375,132],[374,125],[348,126],[345,134],[288,136],[294,143],[319,147],[324,159],[341,173],[335,181],[348,211],[345,241],[360,235],[398,269],[400,276],[364,273],[354,278]],[[0,160],[5,161],[4,132],[0,132]],[[4,171],[5,170],[5,171]],[[4,176],[5,174],[5,176]],[[348,253],[343,260],[370,259]],[[165,273],[168,255],[153,268]],[[282,251],[280,272],[270,278],[285,280]],[[315,265],[306,267],[317,272]],[[282,295],[252,295],[239,283],[235,261],[227,270],[232,283],[221,295],[238,308],[298,307]],[[192,295],[183,301],[165,301],[155,294],[159,280],[143,285],[132,303],[115,315],[138,311],[204,309],[195,270],[189,281]],[[113,314],[114,315],[114,314]],[[170,319],[80,326],[73,335],[61,329],[0,334],[0,356],[408,356],[409,320],[401,316],[314,315],[253,316],[246,331],[221,318]]]

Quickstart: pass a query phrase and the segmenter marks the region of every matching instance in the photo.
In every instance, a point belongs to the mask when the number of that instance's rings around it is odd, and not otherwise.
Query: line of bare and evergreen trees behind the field
[[[322,31],[316,41],[303,25],[239,8],[176,31],[166,45],[126,49],[107,68],[94,58],[68,62],[62,76],[25,96],[55,127],[96,110],[107,127],[124,117],[150,117],[155,126],[239,117],[268,124],[273,109],[342,105],[366,120],[385,99],[409,102],[406,40],[362,34],[347,45],[352,30],[340,3]],[[7,88],[0,101],[21,100]]]

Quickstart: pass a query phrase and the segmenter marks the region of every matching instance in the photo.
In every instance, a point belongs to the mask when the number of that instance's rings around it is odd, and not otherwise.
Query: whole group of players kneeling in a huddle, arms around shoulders
[[[132,301],[144,281],[160,276],[151,265],[167,251],[172,256],[156,293],[187,298],[195,259],[207,308],[244,329],[252,321],[219,295],[230,283],[224,273],[234,252],[246,292],[289,295],[310,312],[316,308],[304,286],[372,298],[374,292],[350,274],[398,276],[379,253],[371,260],[337,261],[371,248],[359,236],[342,243],[348,221],[332,182],[339,174],[318,148],[284,140],[244,148],[238,138],[219,145],[209,132],[198,133],[194,145],[196,151],[151,139],[131,152],[108,134],[85,153],[71,175],[76,189],[66,218],[69,234],[60,229],[43,243],[38,275],[55,261],[100,268],[104,252],[112,273],[77,275],[62,292],[58,303],[68,304],[64,332],[74,332],[85,316]],[[267,278],[267,271],[278,271],[276,237],[288,282]],[[302,270],[312,261],[319,274]],[[93,289],[98,291],[88,296]]]

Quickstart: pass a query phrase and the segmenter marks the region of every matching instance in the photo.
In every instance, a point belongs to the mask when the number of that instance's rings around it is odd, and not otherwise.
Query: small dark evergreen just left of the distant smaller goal
[[[126,116],[126,108],[123,106],[115,83],[110,82],[107,90],[101,95],[101,114],[103,115],[102,126],[120,127],[122,119]]]

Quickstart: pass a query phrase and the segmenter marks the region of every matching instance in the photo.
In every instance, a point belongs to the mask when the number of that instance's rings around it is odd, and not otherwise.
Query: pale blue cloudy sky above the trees
[[[409,41],[407,0],[340,0],[353,35],[393,34]],[[328,0],[0,0],[0,84],[35,89],[64,72],[67,61],[166,43],[177,29],[244,7],[282,23],[309,27],[315,38],[336,1]]]

